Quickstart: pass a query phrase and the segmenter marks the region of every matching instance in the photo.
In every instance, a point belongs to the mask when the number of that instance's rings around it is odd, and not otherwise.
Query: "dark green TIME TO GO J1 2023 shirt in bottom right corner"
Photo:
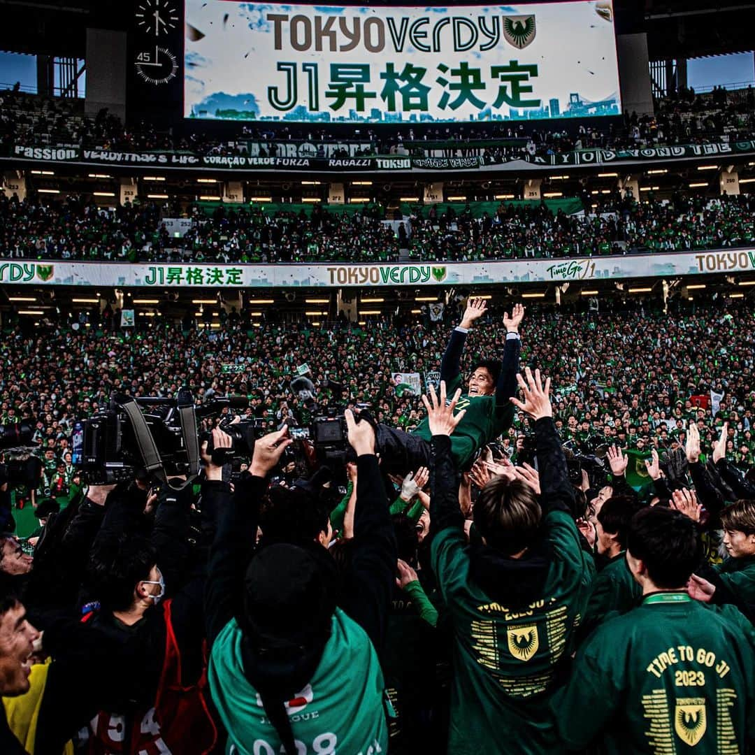
[[[733,606],[653,593],[609,618],[551,701],[562,746],[744,753],[755,735],[755,632]]]

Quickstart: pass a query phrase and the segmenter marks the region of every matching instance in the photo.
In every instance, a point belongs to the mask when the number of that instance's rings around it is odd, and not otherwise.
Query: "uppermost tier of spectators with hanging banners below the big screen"
[[[192,124],[196,128],[196,124]],[[3,153],[15,146],[71,146],[143,151],[183,150],[206,156],[243,155],[249,141],[271,142],[271,156],[282,149],[276,142],[364,143],[362,154],[427,155],[440,149],[448,156],[474,154],[486,162],[516,156],[548,156],[579,149],[624,149],[673,146],[755,135],[755,91],[725,89],[696,95],[685,90],[673,99],[658,100],[655,116],[624,113],[624,122],[595,125],[577,122],[556,128],[553,123],[474,122],[465,125],[341,126],[250,123],[231,127],[220,136],[204,128],[185,133],[158,131],[145,122],[124,125],[106,111],[85,116],[82,100],[48,99],[16,91],[0,93],[0,144]],[[485,143],[487,142],[487,143]]]

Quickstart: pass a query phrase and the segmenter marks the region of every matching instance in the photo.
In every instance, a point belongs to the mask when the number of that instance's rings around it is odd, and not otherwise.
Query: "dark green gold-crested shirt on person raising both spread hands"
[[[516,753],[551,751],[547,695],[557,664],[569,656],[591,567],[569,514],[550,511],[544,529],[547,577],[540,595],[517,609],[493,601],[473,581],[464,532],[448,528],[433,539],[433,571],[455,635],[449,753],[513,752],[512,742]]]

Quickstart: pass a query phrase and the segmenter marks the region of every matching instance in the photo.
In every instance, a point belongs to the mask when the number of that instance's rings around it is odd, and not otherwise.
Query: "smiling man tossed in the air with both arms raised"
[[[448,396],[462,387],[461,353],[467,333],[485,314],[486,307],[484,299],[470,298],[461,322],[451,331],[440,365],[440,379],[445,381]],[[521,350],[519,323],[523,316],[521,304],[514,306],[511,316],[504,313],[506,345],[503,359],[501,362],[495,359],[477,362],[467,384],[467,393],[462,394],[456,404],[455,411],[465,410],[464,418],[451,436],[451,452],[458,469],[467,469],[477,451],[507,430],[513,420],[514,408],[509,399],[516,395]],[[381,463],[388,471],[402,474],[430,466],[430,437],[427,418],[411,433],[378,424],[377,448]]]

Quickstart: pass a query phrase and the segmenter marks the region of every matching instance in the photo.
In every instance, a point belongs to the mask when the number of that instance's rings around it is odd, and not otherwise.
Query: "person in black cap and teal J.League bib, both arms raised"
[[[374,430],[346,412],[357,455],[353,553],[338,607],[337,570],[315,538],[254,553],[266,478],[291,443],[288,429],[257,439],[251,474],[236,482],[211,550],[206,616],[214,703],[234,744],[385,751],[377,660],[396,569],[396,541],[374,455]],[[237,596],[242,596],[239,603]],[[357,673],[347,670],[356,669]],[[257,715],[249,711],[259,706]]]

